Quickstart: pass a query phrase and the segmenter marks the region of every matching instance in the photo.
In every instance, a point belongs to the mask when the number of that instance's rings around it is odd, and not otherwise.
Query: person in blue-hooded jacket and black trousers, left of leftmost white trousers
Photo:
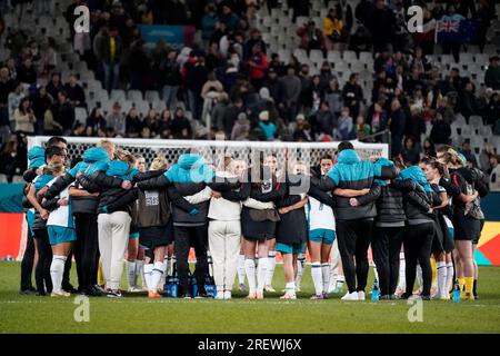
[[[83,152],[82,160],[59,177],[46,192],[46,199],[52,199],[69,188],[71,212],[74,216],[74,260],[77,263],[79,290],[87,296],[101,296],[97,287],[99,266],[98,215],[99,192],[87,191],[77,180],[77,175],[91,169],[104,169],[109,165],[109,155],[102,147],[92,147]]]

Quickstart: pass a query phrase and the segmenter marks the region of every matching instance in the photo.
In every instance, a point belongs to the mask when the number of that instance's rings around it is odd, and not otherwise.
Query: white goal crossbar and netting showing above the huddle
[[[28,148],[43,146],[50,137],[36,136],[28,138]],[[100,138],[66,137],[69,159],[81,156],[86,149],[96,146]],[[154,157],[164,156],[169,164],[174,164],[180,155],[197,150],[208,162],[218,164],[223,155],[236,159],[251,161],[253,155],[274,155],[281,165],[289,159],[300,160],[307,165],[317,165],[322,156],[333,155],[339,142],[278,142],[278,141],[226,141],[226,140],[163,140],[163,139],[110,139],[118,148],[126,149],[146,159],[147,166]],[[352,141],[354,149],[362,159],[372,155],[388,157],[387,144],[363,144]]]

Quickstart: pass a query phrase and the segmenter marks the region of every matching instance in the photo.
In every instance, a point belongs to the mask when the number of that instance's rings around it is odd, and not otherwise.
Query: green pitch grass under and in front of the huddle
[[[76,281],[74,268],[72,280]],[[123,298],[89,298],[89,322],[76,322],[74,296],[68,299],[19,295],[19,263],[0,263],[0,333],[186,333],[186,334],[319,334],[319,333],[500,333],[500,267],[481,267],[476,301],[407,300],[341,301],[341,295],[310,300],[310,266],[297,300],[281,293],[247,300],[234,291],[231,300],[148,299],[144,294]],[[282,266],[274,288],[284,286]],[[370,271],[370,283],[372,279]],[[124,279],[122,286],[126,286]],[[411,309],[413,307],[413,309]],[[77,313],[78,314],[78,313]]]

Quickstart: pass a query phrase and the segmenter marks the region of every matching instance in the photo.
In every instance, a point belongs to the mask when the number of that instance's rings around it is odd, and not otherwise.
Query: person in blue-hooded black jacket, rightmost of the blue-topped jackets
[[[436,233],[432,207],[441,205],[442,201],[427,181],[420,167],[412,166],[403,169],[398,179],[411,179],[417,187],[416,190],[406,192],[403,198],[407,215],[407,229],[403,237],[407,291],[401,298],[408,299],[413,294],[418,263],[422,268],[421,298],[430,300],[432,284],[430,255]]]

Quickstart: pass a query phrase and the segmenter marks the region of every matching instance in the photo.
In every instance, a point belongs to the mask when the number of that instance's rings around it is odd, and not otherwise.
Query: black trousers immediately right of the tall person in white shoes
[[[399,253],[403,239],[404,226],[374,227],[371,239],[373,260],[379,273],[380,293],[393,295],[399,278]]]

